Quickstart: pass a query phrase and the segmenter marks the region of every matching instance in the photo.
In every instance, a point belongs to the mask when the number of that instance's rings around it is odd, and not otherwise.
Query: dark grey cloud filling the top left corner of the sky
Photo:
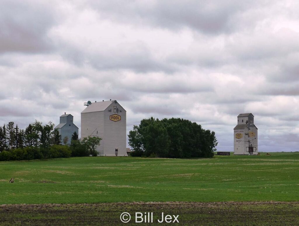
[[[2,1],[0,52],[37,53],[52,48],[47,31],[54,25],[50,5],[39,1]]]

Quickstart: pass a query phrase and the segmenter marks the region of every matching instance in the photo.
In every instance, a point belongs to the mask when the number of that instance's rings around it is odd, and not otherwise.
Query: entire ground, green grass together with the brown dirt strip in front
[[[299,152],[0,162],[0,204],[0,225],[119,225],[122,212],[127,225],[135,212],[154,224],[164,212],[183,225],[299,225]]]

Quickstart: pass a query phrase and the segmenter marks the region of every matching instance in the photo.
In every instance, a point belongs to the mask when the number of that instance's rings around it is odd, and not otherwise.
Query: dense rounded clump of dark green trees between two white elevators
[[[212,157],[216,151],[215,132],[181,118],[150,117],[129,132],[131,156],[160,158]]]

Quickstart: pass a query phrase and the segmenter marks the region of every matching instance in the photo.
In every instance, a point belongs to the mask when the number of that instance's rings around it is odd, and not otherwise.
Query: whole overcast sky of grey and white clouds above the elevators
[[[239,113],[259,151],[298,151],[299,1],[1,0],[0,124],[79,127],[83,103],[116,99],[127,134],[181,117],[233,151]]]

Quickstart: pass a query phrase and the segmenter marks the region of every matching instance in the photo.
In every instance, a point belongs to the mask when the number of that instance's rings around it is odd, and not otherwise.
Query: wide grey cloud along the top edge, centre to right
[[[230,32],[236,21],[232,18],[239,11],[251,6],[240,1],[122,1],[91,2],[102,18],[131,23],[152,24],[169,29],[189,27],[206,33]]]

